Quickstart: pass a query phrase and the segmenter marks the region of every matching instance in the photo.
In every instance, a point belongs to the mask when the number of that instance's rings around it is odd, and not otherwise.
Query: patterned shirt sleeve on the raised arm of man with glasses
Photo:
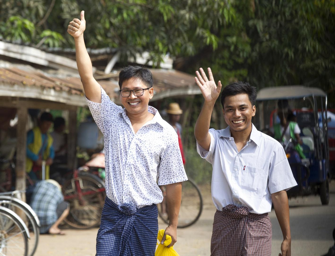
[[[108,120],[113,115],[120,113],[122,107],[112,102],[107,93],[105,92],[105,90],[102,87],[100,88],[101,88],[101,103],[90,101],[87,97],[86,101],[96,125],[99,127],[100,131],[105,135],[105,124],[108,123]]]

